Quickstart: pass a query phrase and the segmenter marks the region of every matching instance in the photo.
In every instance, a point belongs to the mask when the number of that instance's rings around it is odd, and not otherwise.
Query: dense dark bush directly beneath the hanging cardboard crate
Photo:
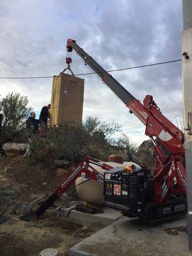
[[[88,152],[89,138],[82,127],[58,127],[48,129],[45,138],[35,136],[31,147],[37,159],[49,165],[64,158],[77,163]]]

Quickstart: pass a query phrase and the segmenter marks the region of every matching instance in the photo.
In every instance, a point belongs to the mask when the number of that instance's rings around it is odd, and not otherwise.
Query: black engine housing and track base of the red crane
[[[113,168],[104,173],[104,197],[108,207],[122,212],[129,218],[139,217],[154,221],[186,214],[187,204],[183,198],[170,198],[165,205],[153,200],[152,175],[145,166]]]

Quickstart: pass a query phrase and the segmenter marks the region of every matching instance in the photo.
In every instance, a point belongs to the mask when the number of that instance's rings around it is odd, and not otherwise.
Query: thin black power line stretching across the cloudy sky
[[[164,61],[159,63],[152,63],[148,65],[141,65],[141,66],[135,66],[135,67],[128,67],[128,68],[118,68],[118,69],[112,69],[112,70],[106,70],[107,72],[116,72],[116,71],[122,71],[122,70],[129,70],[129,69],[135,69],[135,68],[144,68],[144,67],[151,67],[156,65],[162,65],[167,63],[173,63],[181,61],[181,59],[178,60],[170,60],[170,61]],[[82,74],[75,74],[75,76],[86,76],[86,75],[92,75],[92,74],[99,74],[100,72],[89,72],[89,73],[82,73]],[[70,75],[68,75],[70,76]],[[44,79],[44,78],[52,78],[54,76],[35,76],[35,77],[0,77],[0,79]]]

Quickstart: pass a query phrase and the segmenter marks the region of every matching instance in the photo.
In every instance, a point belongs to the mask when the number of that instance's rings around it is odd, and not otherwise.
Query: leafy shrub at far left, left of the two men
[[[26,118],[32,111],[28,107],[28,97],[19,93],[9,93],[0,100],[0,110],[3,112],[2,143],[24,136]]]

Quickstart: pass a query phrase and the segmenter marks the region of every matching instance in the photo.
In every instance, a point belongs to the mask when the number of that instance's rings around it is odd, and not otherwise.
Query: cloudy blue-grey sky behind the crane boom
[[[180,59],[181,0],[0,0],[0,77],[52,76],[65,68],[67,38],[109,69]],[[72,55],[74,73],[90,72]],[[137,99],[151,94],[163,114],[182,123],[181,63],[111,73]],[[85,79],[83,116],[122,125],[133,141],[145,127],[95,75]],[[40,111],[52,79],[0,79],[1,97],[27,95]]]

